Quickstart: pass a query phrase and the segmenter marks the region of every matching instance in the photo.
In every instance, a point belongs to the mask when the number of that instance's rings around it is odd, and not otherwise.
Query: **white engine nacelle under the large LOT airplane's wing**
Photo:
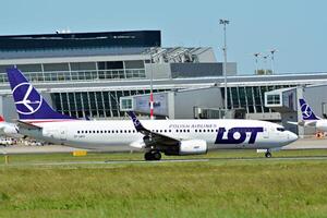
[[[208,152],[207,142],[204,140],[182,141],[179,148],[179,155],[203,155]]]

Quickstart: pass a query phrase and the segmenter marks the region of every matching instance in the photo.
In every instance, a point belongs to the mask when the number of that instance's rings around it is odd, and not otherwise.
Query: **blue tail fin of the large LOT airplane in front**
[[[55,111],[16,68],[7,69],[20,120],[74,119]]]

